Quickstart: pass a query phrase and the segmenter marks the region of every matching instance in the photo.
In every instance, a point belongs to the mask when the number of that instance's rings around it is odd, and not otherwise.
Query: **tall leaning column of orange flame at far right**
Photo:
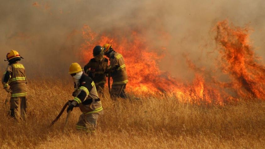
[[[217,24],[216,42],[220,45],[222,72],[228,74],[237,97],[265,98],[265,67],[258,63],[249,42],[249,29],[229,27],[227,21]]]

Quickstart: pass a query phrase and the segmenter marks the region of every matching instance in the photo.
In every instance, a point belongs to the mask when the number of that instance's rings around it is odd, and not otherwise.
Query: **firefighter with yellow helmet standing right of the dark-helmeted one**
[[[128,83],[128,79],[124,59],[121,54],[113,50],[112,45],[105,44],[103,48],[104,54],[109,58],[110,61],[110,77],[113,79],[111,86],[111,97],[113,99],[118,97],[126,99],[127,96],[125,94],[125,88],[126,84]]]

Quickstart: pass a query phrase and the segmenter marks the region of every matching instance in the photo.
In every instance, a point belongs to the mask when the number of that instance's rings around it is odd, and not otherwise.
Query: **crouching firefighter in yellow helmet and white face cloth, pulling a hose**
[[[71,101],[67,112],[69,110],[72,111],[74,107],[79,107],[82,114],[76,124],[76,129],[94,132],[98,116],[103,114],[95,83],[90,77],[83,74],[82,68],[78,63],[71,64],[69,74],[74,80],[75,89],[73,92],[74,100]]]

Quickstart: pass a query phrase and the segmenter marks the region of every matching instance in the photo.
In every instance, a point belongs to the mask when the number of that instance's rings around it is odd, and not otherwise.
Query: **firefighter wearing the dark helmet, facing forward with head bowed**
[[[108,59],[104,57],[102,46],[97,45],[93,49],[92,58],[84,67],[84,71],[95,82],[97,91],[103,94],[103,89],[106,83],[105,71],[108,67]]]

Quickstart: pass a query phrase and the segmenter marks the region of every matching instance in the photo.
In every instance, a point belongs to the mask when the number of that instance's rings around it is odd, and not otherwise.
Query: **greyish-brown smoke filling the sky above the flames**
[[[165,55],[160,63],[162,70],[190,79],[193,74],[188,71],[187,56],[199,67],[213,65],[214,55],[207,53],[215,49],[212,29],[220,20],[251,26],[253,45],[262,49],[264,7],[262,0],[2,0],[0,57],[5,59],[6,53],[14,49],[25,58],[22,63],[28,76],[65,76],[72,62],[81,62],[84,25],[106,34],[136,30],[146,37],[150,49]],[[264,59],[264,51],[258,49],[257,55]],[[0,61],[1,68],[6,65]]]

